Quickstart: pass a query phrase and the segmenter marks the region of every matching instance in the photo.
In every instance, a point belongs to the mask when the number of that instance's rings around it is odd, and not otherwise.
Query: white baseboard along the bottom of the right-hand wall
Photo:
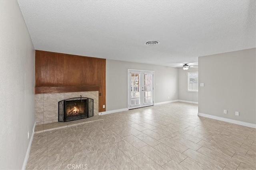
[[[234,123],[237,125],[242,125],[242,126],[247,126],[247,127],[252,127],[252,128],[256,128],[256,124],[253,123],[247,123],[244,121],[238,121],[238,120],[233,120],[233,119],[228,119],[228,118],[224,118],[224,117],[218,117],[218,116],[214,116],[214,115],[208,115],[205,113],[199,113],[197,114],[198,116],[202,116],[202,117],[208,117],[211,119],[216,119],[216,120],[220,120],[220,121],[226,121],[228,123]]]

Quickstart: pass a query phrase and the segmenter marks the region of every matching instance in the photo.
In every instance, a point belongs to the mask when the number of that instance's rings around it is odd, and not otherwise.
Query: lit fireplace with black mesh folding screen
[[[58,103],[58,121],[67,122],[93,116],[93,99],[70,98]]]

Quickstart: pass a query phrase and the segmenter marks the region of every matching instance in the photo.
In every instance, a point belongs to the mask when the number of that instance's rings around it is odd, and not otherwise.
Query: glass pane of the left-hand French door
[[[140,74],[131,74],[131,106],[140,105]]]

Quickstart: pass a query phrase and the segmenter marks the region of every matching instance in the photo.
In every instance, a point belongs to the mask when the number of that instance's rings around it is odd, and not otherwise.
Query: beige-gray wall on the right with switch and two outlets
[[[256,123],[255,60],[255,48],[199,57],[199,112]]]

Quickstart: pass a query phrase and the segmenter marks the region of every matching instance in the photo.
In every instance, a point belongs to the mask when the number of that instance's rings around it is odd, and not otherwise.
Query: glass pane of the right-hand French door
[[[144,104],[152,103],[152,74],[144,74]]]

